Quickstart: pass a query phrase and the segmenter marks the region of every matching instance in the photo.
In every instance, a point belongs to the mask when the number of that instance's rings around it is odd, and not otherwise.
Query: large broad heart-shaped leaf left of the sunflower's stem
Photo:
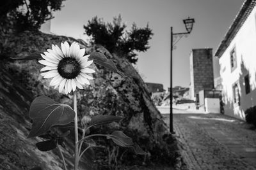
[[[29,117],[33,120],[28,138],[49,131],[53,125],[66,125],[75,117],[74,110],[67,104],[60,104],[46,96],[36,97],[31,103]]]

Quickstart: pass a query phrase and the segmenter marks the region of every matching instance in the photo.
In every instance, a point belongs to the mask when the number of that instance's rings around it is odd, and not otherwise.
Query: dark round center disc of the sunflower
[[[73,79],[78,76],[81,66],[76,59],[65,57],[58,64],[58,72],[63,78]]]

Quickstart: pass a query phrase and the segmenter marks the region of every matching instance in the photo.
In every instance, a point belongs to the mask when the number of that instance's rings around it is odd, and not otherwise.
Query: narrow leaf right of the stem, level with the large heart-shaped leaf
[[[109,124],[111,122],[119,121],[121,119],[122,117],[115,117],[113,115],[97,115],[95,117],[92,117],[92,120],[88,124],[87,129],[89,129],[92,126]]]

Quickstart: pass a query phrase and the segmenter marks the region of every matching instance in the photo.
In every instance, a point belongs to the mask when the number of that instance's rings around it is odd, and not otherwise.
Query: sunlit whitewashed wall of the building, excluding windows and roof
[[[220,57],[220,74],[223,85],[224,110],[226,115],[244,120],[244,111],[256,105],[256,8],[248,16],[227,50]],[[237,67],[231,72],[230,52],[236,46]],[[243,64],[242,64],[243,61]],[[251,92],[245,94],[244,76],[250,75]],[[239,81],[241,104],[233,101],[232,85]]]

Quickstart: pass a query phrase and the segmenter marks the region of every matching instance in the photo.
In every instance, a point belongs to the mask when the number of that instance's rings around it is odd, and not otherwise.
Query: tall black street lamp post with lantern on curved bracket
[[[187,32],[180,32],[180,33],[173,33],[172,27],[171,27],[171,52],[170,52],[170,132],[173,133],[173,112],[172,112],[172,100],[173,100],[173,94],[172,94],[172,50],[173,50],[173,36],[179,36],[179,38],[182,38],[182,36],[190,34],[190,32],[193,29],[193,24],[195,23],[195,20],[193,18],[187,18],[186,20],[183,20],[183,23],[185,24],[186,31]],[[179,41],[179,39],[174,43],[174,45]]]

